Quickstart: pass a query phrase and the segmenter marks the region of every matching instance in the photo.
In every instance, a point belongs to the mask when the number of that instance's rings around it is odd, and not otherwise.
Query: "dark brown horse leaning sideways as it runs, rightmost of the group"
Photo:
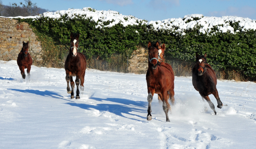
[[[211,109],[216,115],[214,104],[212,103],[208,95],[214,95],[218,102],[218,108],[221,109],[223,104],[220,101],[219,93],[216,88],[216,74],[212,70],[212,67],[206,63],[206,56],[206,54],[204,54],[204,56],[199,56],[198,54],[196,54],[196,66],[194,66],[194,68],[192,69],[192,83],[194,88],[199,91],[202,99],[205,99],[209,103]]]

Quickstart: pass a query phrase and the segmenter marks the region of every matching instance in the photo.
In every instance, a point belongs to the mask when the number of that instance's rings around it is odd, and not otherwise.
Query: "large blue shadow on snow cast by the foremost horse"
[[[111,102],[120,103],[120,104],[105,104],[105,103],[97,104],[97,105],[88,105],[88,104],[84,104],[84,103],[65,103],[65,104],[80,107],[82,109],[87,109],[87,110],[96,109],[99,111],[108,111],[110,113],[114,113],[115,115],[125,117],[128,119],[133,119],[136,121],[141,121],[141,120],[126,117],[125,115],[136,116],[136,117],[140,117],[142,119],[146,119],[146,117],[142,117],[140,115],[132,113],[134,111],[140,112],[140,113],[145,113],[144,108],[145,108],[146,102],[144,102],[144,101],[132,101],[132,100],[120,99],[120,98],[101,99],[101,98],[95,98],[95,97],[91,97],[90,99],[94,99],[97,101],[105,100],[105,101],[111,101]]]

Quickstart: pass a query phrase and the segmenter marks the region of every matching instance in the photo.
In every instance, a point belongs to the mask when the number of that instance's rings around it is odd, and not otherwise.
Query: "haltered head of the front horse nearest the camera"
[[[148,42],[148,60],[152,69],[156,69],[157,65],[160,65],[161,60],[159,53],[162,53],[162,49],[159,48],[161,48],[159,46],[159,42],[156,42],[156,44],[151,44],[151,42]]]

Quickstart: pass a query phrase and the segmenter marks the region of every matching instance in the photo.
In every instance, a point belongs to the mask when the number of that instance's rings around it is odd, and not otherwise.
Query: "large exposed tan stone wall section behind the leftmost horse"
[[[22,42],[28,42],[33,63],[42,62],[42,46],[28,23],[0,17],[0,60],[17,60],[22,49]]]

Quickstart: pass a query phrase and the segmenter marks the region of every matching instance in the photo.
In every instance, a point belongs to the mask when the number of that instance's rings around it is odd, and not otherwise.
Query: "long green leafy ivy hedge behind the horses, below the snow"
[[[61,60],[68,52],[70,45],[70,32],[80,33],[79,50],[87,58],[97,55],[108,61],[112,54],[131,55],[138,45],[146,46],[148,41],[159,40],[166,44],[166,55],[176,60],[194,62],[195,53],[207,53],[208,63],[214,69],[232,69],[244,72],[251,78],[256,78],[256,31],[242,32],[238,22],[230,23],[234,30],[240,30],[236,34],[218,32],[218,26],[212,31],[202,34],[196,26],[193,29],[184,30],[182,35],[176,30],[154,30],[152,25],[128,25],[116,24],[107,28],[96,28],[97,22],[84,16],[76,16],[70,19],[67,15],[58,19],[38,18],[19,19],[20,22],[28,22],[41,42],[43,49],[50,52],[52,47],[47,44],[52,42],[56,50],[55,60]],[[114,21],[114,20],[112,20]],[[110,22],[104,22],[108,25]],[[65,53],[66,52],[66,53]],[[239,67],[234,67],[239,66]]]

